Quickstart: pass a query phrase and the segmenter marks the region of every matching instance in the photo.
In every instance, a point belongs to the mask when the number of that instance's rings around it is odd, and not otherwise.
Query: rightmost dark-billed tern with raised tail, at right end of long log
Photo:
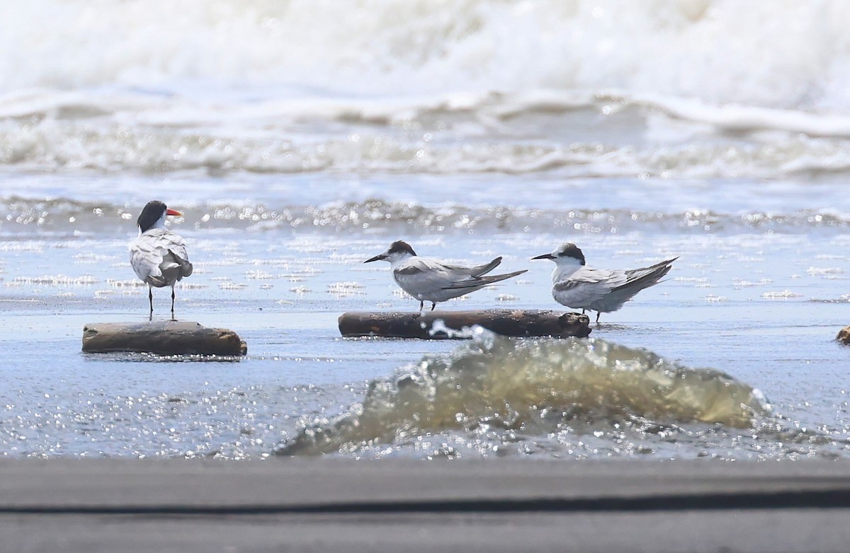
[[[672,268],[672,262],[661,261],[640,269],[593,269],[585,265],[584,254],[574,243],[565,243],[551,254],[532,260],[553,260],[552,296],[559,304],[573,309],[596,311],[599,315],[619,310],[635,294],[658,284]]]

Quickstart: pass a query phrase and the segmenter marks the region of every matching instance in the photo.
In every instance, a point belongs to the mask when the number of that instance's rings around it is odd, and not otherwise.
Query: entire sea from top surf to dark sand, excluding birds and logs
[[[33,0],[0,8],[0,455],[847,457],[850,4]],[[241,360],[83,355],[143,321],[150,199],[177,316]],[[340,338],[388,266],[529,269],[447,310],[555,309],[679,256],[590,341]],[[167,316],[158,291],[155,316]]]

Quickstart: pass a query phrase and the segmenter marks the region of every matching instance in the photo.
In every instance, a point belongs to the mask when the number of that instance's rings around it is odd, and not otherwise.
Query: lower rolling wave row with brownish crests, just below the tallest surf
[[[0,130],[0,166],[29,171],[828,178],[850,170],[850,117],[611,93],[246,105],[33,92],[0,97]]]

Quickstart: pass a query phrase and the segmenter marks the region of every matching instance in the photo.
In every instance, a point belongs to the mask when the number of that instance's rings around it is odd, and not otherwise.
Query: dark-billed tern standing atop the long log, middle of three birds
[[[437,302],[458,298],[480,290],[488,284],[516,277],[525,272],[525,270],[514,271],[504,275],[485,277],[486,273],[501,263],[501,257],[476,267],[446,265],[437,260],[419,257],[409,243],[401,240],[390,244],[382,254],[365,260],[364,263],[378,260],[389,262],[395,282],[402,290],[419,300],[420,311],[424,308],[426,301],[431,302],[433,311]]]

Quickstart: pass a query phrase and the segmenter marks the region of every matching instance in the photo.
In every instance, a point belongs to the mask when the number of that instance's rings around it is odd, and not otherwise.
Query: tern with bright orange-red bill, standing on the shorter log
[[[130,243],[130,265],[148,285],[150,316],[154,315],[153,288],[171,287],[171,316],[174,316],[174,283],[192,274],[192,264],[183,237],[165,227],[168,215],[183,215],[158,200],[148,202],[136,225],[139,237]]]

